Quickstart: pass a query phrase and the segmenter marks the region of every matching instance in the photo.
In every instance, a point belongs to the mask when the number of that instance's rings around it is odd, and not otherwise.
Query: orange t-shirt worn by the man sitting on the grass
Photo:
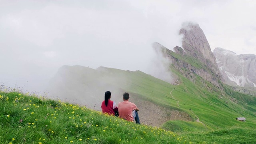
[[[132,122],[134,120],[132,116],[132,111],[136,110],[136,108],[137,106],[132,102],[128,102],[128,101],[119,102],[118,103],[119,117]]]

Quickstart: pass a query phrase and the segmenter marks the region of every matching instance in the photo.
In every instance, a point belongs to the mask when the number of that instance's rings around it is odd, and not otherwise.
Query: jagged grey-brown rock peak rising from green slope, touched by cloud
[[[188,23],[180,29],[183,41],[182,47],[174,47],[174,53],[155,42],[153,48],[171,60],[172,66],[181,72],[192,82],[196,79],[194,74],[211,82],[222,90],[223,78],[215,62],[215,57],[211,52],[210,45],[204,35],[204,32],[198,24]]]

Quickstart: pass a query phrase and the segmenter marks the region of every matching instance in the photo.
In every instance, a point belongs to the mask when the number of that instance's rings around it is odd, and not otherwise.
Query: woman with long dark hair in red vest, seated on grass
[[[103,113],[107,113],[109,115],[114,116],[115,112],[118,112],[118,107],[116,106],[116,102],[110,100],[111,92],[105,92],[105,100],[101,104],[101,109]]]

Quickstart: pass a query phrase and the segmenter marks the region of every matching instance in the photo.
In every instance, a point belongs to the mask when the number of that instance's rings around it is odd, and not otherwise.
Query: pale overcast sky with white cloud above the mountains
[[[186,21],[212,51],[256,54],[255,14],[255,0],[0,0],[0,84],[36,88],[62,65],[147,72],[152,42],[181,46]]]

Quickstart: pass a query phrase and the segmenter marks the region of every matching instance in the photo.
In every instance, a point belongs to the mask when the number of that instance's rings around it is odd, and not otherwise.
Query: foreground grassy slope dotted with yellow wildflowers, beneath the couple
[[[2,144],[256,143],[255,129],[230,128],[195,133],[182,130],[183,133],[176,134],[127,122],[84,106],[18,92],[0,92],[0,109]]]

